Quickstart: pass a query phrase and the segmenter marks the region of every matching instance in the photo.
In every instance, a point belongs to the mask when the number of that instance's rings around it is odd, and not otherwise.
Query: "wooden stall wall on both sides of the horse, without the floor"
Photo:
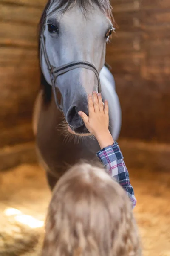
[[[0,148],[33,139],[37,23],[46,0],[0,1]],[[121,137],[170,142],[170,1],[113,0],[108,45],[122,105]]]

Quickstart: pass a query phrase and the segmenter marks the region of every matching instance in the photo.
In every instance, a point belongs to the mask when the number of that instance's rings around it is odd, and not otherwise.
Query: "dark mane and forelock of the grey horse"
[[[106,14],[106,16],[114,23],[113,14],[112,14],[112,7],[109,0],[48,0],[44,11],[42,12],[42,16],[40,18],[39,23],[39,52],[40,52],[40,35],[42,33],[42,28],[45,23],[45,19],[47,17],[47,10],[49,6],[53,3],[56,3],[55,8],[52,10],[51,13],[56,12],[60,9],[60,12],[66,12],[67,10],[71,9],[75,3],[79,4],[82,8],[84,14],[87,11],[87,7],[91,6],[93,3],[99,6],[99,9]],[[50,13],[50,14],[51,14]],[[51,86],[45,80],[44,75],[41,71],[41,86],[43,89],[44,101],[48,103],[51,101]]]

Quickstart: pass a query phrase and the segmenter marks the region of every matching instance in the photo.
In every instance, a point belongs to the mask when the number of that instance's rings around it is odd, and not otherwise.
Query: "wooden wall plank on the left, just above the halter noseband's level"
[[[37,49],[22,47],[0,47],[0,67],[20,67],[23,65],[38,65]]]

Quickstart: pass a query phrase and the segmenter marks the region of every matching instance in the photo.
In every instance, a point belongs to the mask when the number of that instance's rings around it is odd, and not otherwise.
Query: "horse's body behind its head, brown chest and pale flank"
[[[103,98],[110,106],[110,131],[116,140],[121,126],[119,99],[115,91],[113,76],[106,67],[100,73]],[[34,108],[33,130],[36,135],[37,155],[47,173],[48,183],[53,189],[59,177],[80,159],[96,161],[100,149],[94,137],[78,137],[69,134],[63,123],[63,113],[56,108],[54,97],[48,107],[44,105],[42,91],[37,96]]]

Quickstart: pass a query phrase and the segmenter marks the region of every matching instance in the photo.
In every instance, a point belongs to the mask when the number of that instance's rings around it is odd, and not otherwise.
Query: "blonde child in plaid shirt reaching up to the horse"
[[[57,182],[45,225],[42,256],[140,256],[139,236],[130,200],[133,188],[117,143],[108,131],[108,104],[89,96],[89,117],[80,112],[102,150],[107,166],[73,166]],[[127,197],[125,191],[127,192]]]

